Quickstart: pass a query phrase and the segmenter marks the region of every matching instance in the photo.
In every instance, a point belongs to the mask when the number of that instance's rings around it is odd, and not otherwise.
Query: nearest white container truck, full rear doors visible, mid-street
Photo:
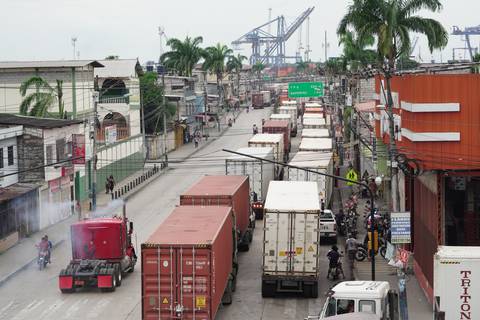
[[[315,182],[272,181],[264,208],[262,296],[318,296],[320,203]]]

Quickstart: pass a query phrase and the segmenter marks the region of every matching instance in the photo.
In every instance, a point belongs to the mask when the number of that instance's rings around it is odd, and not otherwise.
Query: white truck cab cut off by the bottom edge
[[[343,281],[333,287],[316,319],[347,313],[368,313],[382,320],[396,319],[398,297],[386,281]],[[315,319],[309,317],[309,319]]]

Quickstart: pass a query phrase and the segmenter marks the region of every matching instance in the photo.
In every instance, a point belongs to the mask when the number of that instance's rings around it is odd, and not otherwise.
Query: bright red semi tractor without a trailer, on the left
[[[78,288],[115,291],[125,274],[133,272],[137,256],[132,244],[133,223],[125,215],[93,218],[70,226],[72,260],[60,271],[59,289]]]

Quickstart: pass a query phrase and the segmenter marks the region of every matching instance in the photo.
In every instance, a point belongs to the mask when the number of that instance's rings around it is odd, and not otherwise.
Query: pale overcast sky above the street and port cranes
[[[158,26],[168,37],[186,35],[204,38],[204,45],[217,42],[230,45],[272,16],[284,15],[293,22],[310,6],[311,59],[324,60],[324,32],[328,34],[328,55],[341,53],[336,27],[346,11],[347,0],[0,0],[0,60],[71,59],[71,37],[78,38],[81,59],[103,59],[114,54],[120,58],[139,58],[141,62],[157,60],[159,55]],[[433,17],[450,32],[453,25],[480,24],[479,0],[443,0],[444,9]],[[303,28],[305,36],[305,27]],[[305,43],[305,37],[303,39]],[[287,54],[294,55],[298,35],[287,45]],[[479,46],[480,36],[473,44]],[[419,46],[424,61],[432,58],[426,41]],[[419,48],[415,50],[418,56]],[[435,58],[451,59],[452,47],[464,47],[457,36],[451,36],[448,47]],[[239,51],[249,56],[245,47]],[[463,53],[461,53],[463,56]]]

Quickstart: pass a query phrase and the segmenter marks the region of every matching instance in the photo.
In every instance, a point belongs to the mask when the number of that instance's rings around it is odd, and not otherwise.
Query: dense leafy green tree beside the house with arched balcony
[[[145,133],[155,134],[163,130],[163,117],[167,120],[176,113],[176,107],[166,104],[163,107],[163,87],[158,83],[156,72],[145,72],[140,77],[140,90],[143,104],[143,118],[145,121]]]

